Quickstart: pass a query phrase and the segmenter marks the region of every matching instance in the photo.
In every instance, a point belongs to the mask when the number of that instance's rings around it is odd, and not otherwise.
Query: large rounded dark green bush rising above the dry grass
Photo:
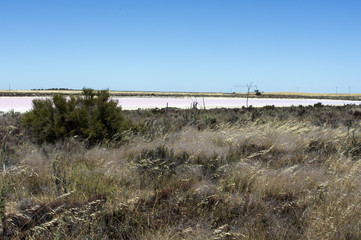
[[[23,124],[39,143],[54,143],[66,137],[79,137],[94,145],[121,136],[131,128],[117,102],[109,99],[107,90],[83,89],[83,95],[66,98],[33,100],[33,109],[24,116]]]

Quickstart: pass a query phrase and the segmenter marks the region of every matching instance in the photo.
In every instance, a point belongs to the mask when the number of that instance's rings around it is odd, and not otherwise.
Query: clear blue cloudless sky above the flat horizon
[[[361,92],[360,0],[0,0],[0,89]]]

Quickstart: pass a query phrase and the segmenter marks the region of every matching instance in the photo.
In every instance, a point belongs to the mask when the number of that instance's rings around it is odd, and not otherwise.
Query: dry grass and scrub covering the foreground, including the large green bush
[[[361,238],[360,106],[122,111],[91,96],[0,117],[0,238]]]

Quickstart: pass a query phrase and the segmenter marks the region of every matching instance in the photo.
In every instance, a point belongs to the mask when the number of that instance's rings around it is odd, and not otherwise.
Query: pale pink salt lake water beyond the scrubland
[[[33,99],[45,99],[44,97],[0,97],[0,111],[7,112],[26,112],[32,108]],[[118,101],[123,109],[147,109],[147,108],[190,108],[193,102],[198,102],[198,107],[203,108],[202,98],[170,98],[170,97],[118,97],[113,98]],[[321,102],[324,105],[344,105],[344,104],[361,104],[361,101],[346,100],[325,100],[325,99],[267,99],[253,98],[249,99],[248,105],[262,107],[266,105],[281,106],[308,106]],[[210,108],[237,108],[246,106],[245,98],[204,98],[204,104],[207,109]]]

